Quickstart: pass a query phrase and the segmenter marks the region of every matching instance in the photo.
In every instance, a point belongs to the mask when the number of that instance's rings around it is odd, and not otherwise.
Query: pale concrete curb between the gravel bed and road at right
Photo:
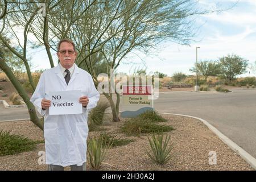
[[[238,146],[236,143],[234,143],[232,140],[230,140],[228,137],[226,137],[224,134],[218,131],[216,127],[210,125],[210,123],[205,121],[204,119],[193,117],[191,115],[184,115],[184,114],[171,114],[171,113],[159,113],[159,114],[180,115],[184,117],[191,117],[191,118],[198,119],[199,121],[203,122],[209,128],[210,131],[216,134],[218,138],[222,140],[222,142],[227,144],[233,151],[235,151],[238,155],[240,155],[242,159],[244,159],[248,164],[250,164],[251,167],[253,167],[256,170],[256,159],[253,156],[251,156],[248,152],[243,150],[240,146]]]

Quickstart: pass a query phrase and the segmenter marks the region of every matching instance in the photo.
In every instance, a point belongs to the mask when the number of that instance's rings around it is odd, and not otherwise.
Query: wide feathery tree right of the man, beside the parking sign
[[[156,48],[164,40],[171,40],[179,44],[189,44],[193,36],[193,22],[191,16],[200,14],[195,8],[194,1],[189,0],[115,0],[98,3],[97,8],[87,13],[100,14],[95,22],[82,19],[86,27],[72,31],[72,38],[83,40],[81,35],[96,36],[94,41],[82,42],[82,50],[77,64],[86,65],[98,85],[95,67],[90,58],[93,52],[104,55],[109,68],[117,69],[121,61],[133,52],[149,54],[150,49]],[[95,6],[96,7],[96,6]],[[90,27],[86,22],[90,22]],[[102,24],[106,26],[102,27]],[[102,27],[102,28],[100,28]],[[95,30],[101,30],[96,32]],[[89,32],[88,32],[89,31]],[[92,37],[90,36],[90,37]],[[111,80],[109,79],[109,82]],[[119,94],[114,103],[113,93],[103,93],[110,102],[113,121],[119,121]]]

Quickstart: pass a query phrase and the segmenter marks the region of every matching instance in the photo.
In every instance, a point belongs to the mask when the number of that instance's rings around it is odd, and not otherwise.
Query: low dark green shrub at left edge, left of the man
[[[36,143],[43,142],[43,140],[33,141],[26,137],[10,134],[10,131],[0,130],[0,156],[31,151],[36,148]]]

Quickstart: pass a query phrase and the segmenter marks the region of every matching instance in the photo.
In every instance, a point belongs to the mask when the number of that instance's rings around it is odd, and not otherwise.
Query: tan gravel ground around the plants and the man
[[[175,142],[175,156],[167,164],[158,165],[151,162],[144,150],[148,147],[147,135],[126,137],[119,133],[121,122],[104,122],[105,132],[117,137],[135,139],[126,146],[108,150],[101,170],[254,170],[236,152],[224,144],[212,131],[197,119],[176,115],[163,115],[175,130],[170,131],[172,142]],[[24,135],[33,140],[42,140],[43,132],[30,121],[2,122],[0,129]],[[100,132],[90,132],[89,137]],[[45,151],[44,143],[37,144],[34,151],[0,157],[0,170],[46,170],[47,165],[39,165],[42,158],[40,151]],[[217,154],[217,164],[209,164],[209,152]],[[41,158],[40,158],[41,157]],[[92,168],[87,164],[87,169]],[[69,170],[69,168],[65,168]]]

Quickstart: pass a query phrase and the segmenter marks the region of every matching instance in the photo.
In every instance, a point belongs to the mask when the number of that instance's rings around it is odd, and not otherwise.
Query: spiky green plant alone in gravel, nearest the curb
[[[151,139],[148,137],[150,143],[150,150],[146,151],[146,154],[150,159],[157,164],[165,164],[174,156],[174,143],[170,143],[170,136],[166,135],[152,135]]]

